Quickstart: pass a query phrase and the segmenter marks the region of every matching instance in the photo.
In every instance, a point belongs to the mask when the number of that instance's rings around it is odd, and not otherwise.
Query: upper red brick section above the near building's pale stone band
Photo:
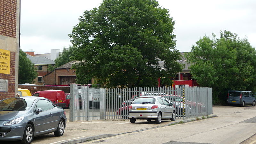
[[[16,1],[0,1],[0,35],[16,38]]]

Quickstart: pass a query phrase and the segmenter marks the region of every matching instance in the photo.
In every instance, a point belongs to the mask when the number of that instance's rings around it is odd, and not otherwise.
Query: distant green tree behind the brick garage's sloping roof
[[[57,67],[59,67],[61,65],[64,65],[65,63],[70,62],[71,61],[71,57],[74,56],[73,55],[73,49],[74,49],[74,46],[69,46],[68,48],[66,48],[64,46],[62,53],[59,55],[58,58],[56,58],[54,60],[55,66],[49,66],[48,70],[52,71],[55,68],[57,68]]]

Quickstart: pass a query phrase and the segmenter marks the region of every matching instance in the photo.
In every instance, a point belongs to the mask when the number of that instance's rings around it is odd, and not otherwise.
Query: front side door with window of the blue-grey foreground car
[[[35,110],[42,109],[42,112],[36,113]],[[34,108],[35,118],[35,134],[46,133],[50,129],[50,123],[52,122],[52,111],[49,108],[47,100],[38,100]]]

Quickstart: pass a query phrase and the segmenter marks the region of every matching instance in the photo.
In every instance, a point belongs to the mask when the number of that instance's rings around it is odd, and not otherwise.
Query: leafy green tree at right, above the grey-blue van
[[[256,51],[247,39],[224,30],[200,38],[187,54],[193,79],[213,88],[214,102],[226,100],[228,90],[254,90]]]

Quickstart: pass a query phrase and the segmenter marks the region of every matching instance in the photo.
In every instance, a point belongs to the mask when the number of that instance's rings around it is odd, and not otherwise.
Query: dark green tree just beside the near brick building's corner
[[[34,79],[37,77],[37,69],[34,64],[27,58],[25,52],[20,50],[19,52],[19,84],[34,83]]]

